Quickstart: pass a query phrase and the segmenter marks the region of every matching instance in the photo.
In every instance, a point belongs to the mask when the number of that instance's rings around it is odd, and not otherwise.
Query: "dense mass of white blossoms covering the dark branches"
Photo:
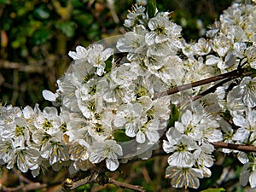
[[[0,162],[35,177],[42,167],[65,166],[72,174],[102,161],[115,171],[119,162],[150,158],[164,138],[163,150],[170,154],[166,177],[174,187],[198,188],[199,178],[211,176],[213,143],[256,146],[255,20],[255,6],[234,4],[208,38],[189,44],[169,12],[156,10],[150,18],[135,5],[116,47],[92,44],[68,53],[73,64],[58,79],[58,90],[43,91],[56,107],[0,106]],[[117,58],[119,53],[125,57]],[[192,98],[209,84],[164,94],[236,69],[240,79],[199,100]],[[255,155],[234,153],[244,164],[241,183],[256,187]]]

